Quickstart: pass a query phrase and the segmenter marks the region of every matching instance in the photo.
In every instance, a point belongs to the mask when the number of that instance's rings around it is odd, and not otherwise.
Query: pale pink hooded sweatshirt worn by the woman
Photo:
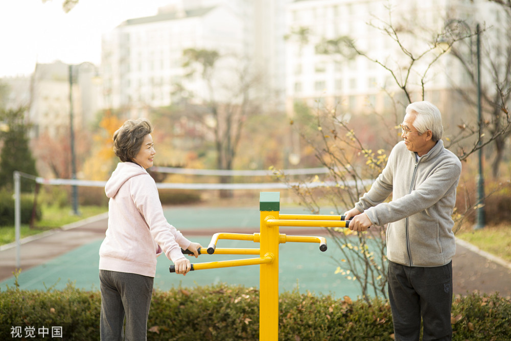
[[[154,179],[131,162],[117,165],[105,186],[108,229],[99,249],[99,268],[148,277],[156,274],[156,257],[184,258],[190,241],[167,222]]]

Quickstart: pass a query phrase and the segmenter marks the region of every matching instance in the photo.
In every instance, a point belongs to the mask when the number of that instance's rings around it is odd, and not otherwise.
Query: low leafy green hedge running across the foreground
[[[97,291],[0,291],[0,339],[11,326],[62,326],[70,340],[99,339]],[[334,300],[286,292],[279,298],[279,340],[391,340],[387,302]],[[511,339],[511,300],[471,294],[453,303],[453,340]],[[204,286],[155,291],[148,340],[258,340],[259,291],[241,286]],[[37,328],[36,328],[37,331]]]

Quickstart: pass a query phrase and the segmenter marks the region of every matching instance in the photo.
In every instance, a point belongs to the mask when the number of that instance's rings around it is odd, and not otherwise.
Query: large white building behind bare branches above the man
[[[407,98],[399,97],[403,96],[401,85],[407,85],[412,101],[422,99],[423,82],[426,100],[436,103],[442,111],[454,110],[461,99],[453,98],[453,87],[474,86],[452,56],[442,56],[431,66],[439,54],[435,51],[434,41],[439,38],[435,34],[446,31],[448,18],[467,22],[475,32],[476,21],[492,22],[495,16],[492,6],[495,7],[490,2],[449,0],[293,2],[288,7],[287,32],[307,32],[307,40],[300,41],[299,35],[291,34],[286,47],[288,113],[293,115],[296,100],[311,107],[318,103],[330,108],[339,104],[343,112],[349,113],[376,109],[383,112],[391,107],[392,101],[402,107],[408,103]],[[399,43],[389,31],[390,23],[397,31]],[[490,31],[486,34],[499,35]],[[317,50],[320,42],[343,36],[353,39],[367,57],[327,55]],[[341,51],[348,50],[342,50],[341,45]],[[421,56],[424,52],[427,53]],[[412,59],[408,53],[415,59],[410,73],[407,71]],[[391,98],[393,93],[400,95]]]

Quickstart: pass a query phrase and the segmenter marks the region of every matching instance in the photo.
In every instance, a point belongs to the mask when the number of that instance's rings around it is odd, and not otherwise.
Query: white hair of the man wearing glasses
[[[423,134],[427,130],[431,130],[433,133],[431,139],[433,141],[436,142],[442,139],[444,134],[442,114],[434,104],[428,101],[413,102],[406,107],[406,113],[411,111],[415,111],[417,114],[415,121],[413,121],[413,126],[419,130],[419,133]]]

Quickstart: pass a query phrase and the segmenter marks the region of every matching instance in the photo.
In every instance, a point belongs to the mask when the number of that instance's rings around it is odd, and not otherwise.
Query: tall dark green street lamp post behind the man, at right
[[[456,23],[467,29],[468,32],[472,33],[471,28],[466,22],[458,19],[451,19],[446,22],[445,27],[449,27],[451,24]],[[439,41],[442,43],[442,41]],[[472,38],[470,40],[470,52],[472,56]],[[447,51],[446,49],[444,49]],[[477,156],[478,156],[478,169],[477,169],[477,202],[476,202],[476,221],[474,230],[484,228],[485,216],[484,216],[484,177],[482,169],[482,119],[481,119],[481,49],[480,49],[480,31],[479,24],[476,25],[476,63],[477,63],[477,124],[478,124],[478,138],[477,138]]]

